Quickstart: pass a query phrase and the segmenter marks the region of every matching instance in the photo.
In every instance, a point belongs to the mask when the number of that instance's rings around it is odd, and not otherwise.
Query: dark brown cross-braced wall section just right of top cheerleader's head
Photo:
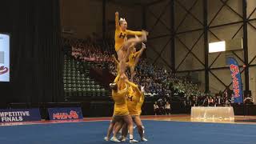
[[[146,8],[146,29],[150,32],[146,55],[156,65],[171,66],[170,52],[170,1],[158,2]],[[158,36],[162,38],[157,38]]]

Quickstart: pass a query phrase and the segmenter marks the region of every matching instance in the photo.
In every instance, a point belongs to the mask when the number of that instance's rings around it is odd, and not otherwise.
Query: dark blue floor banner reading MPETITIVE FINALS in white
[[[41,121],[39,109],[2,109],[0,122]]]

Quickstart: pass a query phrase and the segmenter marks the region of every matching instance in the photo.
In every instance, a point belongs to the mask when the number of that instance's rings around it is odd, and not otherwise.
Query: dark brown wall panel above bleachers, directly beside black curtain
[[[60,4],[62,28],[74,30],[74,37],[86,38],[92,33],[102,34],[102,2],[62,0]]]

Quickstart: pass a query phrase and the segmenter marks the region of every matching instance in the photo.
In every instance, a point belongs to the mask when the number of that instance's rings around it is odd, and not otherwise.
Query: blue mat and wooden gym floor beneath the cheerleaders
[[[256,117],[236,116],[234,122],[191,122],[190,115],[142,116],[148,142],[158,144],[256,143]],[[2,144],[99,144],[110,118],[84,118],[79,121],[1,123]],[[137,130],[134,138],[138,138]],[[128,142],[124,142],[128,143]]]

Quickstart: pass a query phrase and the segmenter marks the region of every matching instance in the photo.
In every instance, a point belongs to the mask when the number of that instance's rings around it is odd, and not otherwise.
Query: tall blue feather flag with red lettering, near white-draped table
[[[242,103],[242,79],[238,62],[234,58],[228,57],[227,64],[230,66],[230,72],[232,77],[234,103]]]

